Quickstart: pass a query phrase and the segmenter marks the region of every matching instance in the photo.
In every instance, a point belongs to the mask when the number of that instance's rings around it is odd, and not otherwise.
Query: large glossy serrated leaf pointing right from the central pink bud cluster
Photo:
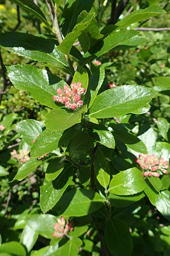
[[[140,85],[122,85],[100,93],[90,109],[95,118],[119,117],[145,106],[156,93]]]

